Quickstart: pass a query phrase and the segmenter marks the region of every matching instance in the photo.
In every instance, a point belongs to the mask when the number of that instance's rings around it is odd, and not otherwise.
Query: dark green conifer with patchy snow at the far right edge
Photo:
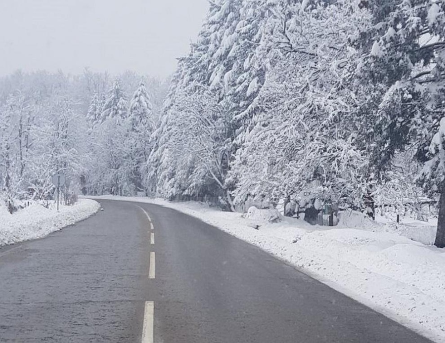
[[[362,123],[372,143],[372,165],[384,177],[395,154],[408,146],[416,149],[418,161],[431,165],[431,142],[437,141],[433,136],[444,116],[445,3],[376,0],[366,5],[375,25],[361,40],[373,42],[358,68],[362,94],[372,94],[363,96],[368,120]],[[425,185],[430,190],[428,181]],[[438,187],[436,194],[441,192]],[[445,225],[439,225],[438,245],[445,244],[444,232]]]

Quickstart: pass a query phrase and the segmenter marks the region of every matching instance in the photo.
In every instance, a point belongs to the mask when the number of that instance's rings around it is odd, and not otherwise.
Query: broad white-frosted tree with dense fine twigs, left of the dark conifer
[[[236,203],[362,202],[366,159],[350,122],[348,83],[356,65],[350,39],[368,18],[356,1],[277,1],[265,24],[274,29],[263,43],[262,108],[233,164]]]

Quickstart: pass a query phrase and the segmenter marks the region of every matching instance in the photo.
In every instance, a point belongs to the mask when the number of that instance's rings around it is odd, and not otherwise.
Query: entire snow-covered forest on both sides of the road
[[[53,199],[56,173],[65,201],[419,219],[433,204],[445,247],[444,13],[443,0],[214,0],[169,80],[0,78],[1,206]]]

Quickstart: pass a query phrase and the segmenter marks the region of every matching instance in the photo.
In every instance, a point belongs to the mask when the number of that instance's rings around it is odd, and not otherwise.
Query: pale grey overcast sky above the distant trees
[[[0,0],[0,75],[89,67],[166,77],[207,10],[207,0]]]

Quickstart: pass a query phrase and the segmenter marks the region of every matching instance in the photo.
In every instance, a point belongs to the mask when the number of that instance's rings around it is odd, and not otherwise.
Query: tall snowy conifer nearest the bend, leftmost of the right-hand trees
[[[169,197],[216,196],[226,208],[233,208],[225,185],[233,154],[233,113],[225,97],[223,79],[236,60],[230,52],[238,42],[236,27],[241,4],[239,0],[212,2],[197,43],[192,44],[190,54],[180,62],[180,77],[175,79],[177,85],[166,101],[168,109],[164,110],[168,119],[163,119],[160,141],[166,146],[160,144],[158,148],[164,151],[158,169],[158,189]],[[187,116],[193,119],[187,120]],[[196,125],[190,126],[190,122]],[[184,128],[188,129],[187,134],[179,134]],[[167,163],[167,156],[175,156],[175,162]]]

